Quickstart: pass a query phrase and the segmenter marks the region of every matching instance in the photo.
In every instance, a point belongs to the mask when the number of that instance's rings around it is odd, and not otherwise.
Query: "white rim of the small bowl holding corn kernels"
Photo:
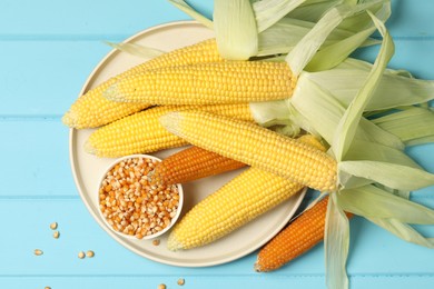
[[[181,185],[176,185],[177,187],[177,190],[178,190],[178,195],[179,195],[179,200],[178,200],[178,208],[177,208],[177,211],[176,211],[176,215],[174,216],[174,218],[170,219],[170,225],[167,226],[166,228],[164,228],[162,230],[156,232],[156,233],[152,233],[152,235],[147,235],[147,236],[144,236],[144,238],[139,239],[137,238],[136,236],[131,236],[131,235],[128,235],[128,233],[124,233],[124,232],[120,232],[120,231],[117,231],[115,230],[111,225],[108,222],[108,220],[106,219],[106,217],[102,215],[101,212],[101,209],[100,209],[100,193],[99,193],[99,190],[102,186],[102,181],[106,179],[106,176],[107,173],[116,167],[116,165],[120,163],[121,161],[125,161],[127,159],[136,159],[136,158],[145,158],[145,159],[151,159],[151,160],[156,160],[158,162],[161,161],[161,159],[159,158],[156,158],[154,156],[149,156],[149,155],[130,155],[130,156],[126,156],[126,157],[122,157],[122,158],[119,158],[117,160],[115,160],[114,162],[111,162],[111,165],[107,168],[107,170],[102,173],[99,182],[98,182],[98,188],[97,188],[97,203],[98,203],[98,212],[99,215],[101,216],[101,219],[103,220],[103,222],[107,225],[108,228],[110,228],[111,231],[114,231],[115,233],[121,236],[121,237],[125,237],[125,238],[129,238],[129,239],[134,239],[134,240],[149,240],[149,239],[154,239],[154,238],[157,238],[161,235],[164,235],[165,232],[167,232],[168,230],[170,230],[174,225],[176,223],[176,221],[179,219],[179,216],[181,213],[181,210],[183,210],[183,205],[184,205],[184,190],[183,190],[183,187]]]

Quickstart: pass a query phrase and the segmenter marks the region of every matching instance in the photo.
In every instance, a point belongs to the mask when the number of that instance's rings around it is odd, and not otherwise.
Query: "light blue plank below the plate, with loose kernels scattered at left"
[[[434,207],[434,198],[418,199]],[[0,279],[13,276],[257,276],[253,270],[256,252],[235,262],[208,268],[181,268],[162,265],[127,250],[106,233],[79,199],[0,199],[4,221],[0,247]],[[49,225],[58,222],[60,238],[52,238]],[[17,230],[17,227],[21,230]],[[434,236],[434,226],[423,232]],[[12,249],[13,248],[13,249]],[[33,250],[43,250],[34,256]],[[79,259],[80,250],[93,250],[95,258]],[[324,275],[324,251],[316,247],[302,258],[264,278],[275,280],[293,276]],[[348,272],[352,276],[428,275],[434,276],[431,249],[405,243],[365,221],[352,220]],[[375,261],[374,261],[375,260]],[[26,265],[26,267],[23,267]],[[103,270],[101,270],[103,268]]]

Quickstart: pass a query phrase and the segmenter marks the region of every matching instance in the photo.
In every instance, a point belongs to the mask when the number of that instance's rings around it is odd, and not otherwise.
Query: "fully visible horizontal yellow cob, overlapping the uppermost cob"
[[[223,61],[144,71],[119,80],[103,96],[151,104],[245,103],[289,98],[293,81],[286,62]]]

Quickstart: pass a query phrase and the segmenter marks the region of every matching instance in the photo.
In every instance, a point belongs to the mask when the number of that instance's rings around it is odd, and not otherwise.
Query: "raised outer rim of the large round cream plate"
[[[171,27],[171,26],[175,26],[175,27],[176,26],[184,26],[184,24],[199,24],[200,26],[200,23],[195,21],[195,20],[170,21],[170,22],[166,22],[166,23],[161,23],[161,24],[157,24],[157,26],[152,26],[152,27],[149,27],[147,29],[144,29],[144,30],[141,30],[141,31],[139,31],[139,32],[128,37],[127,39],[125,39],[121,42],[122,43],[127,43],[127,42],[134,41],[135,39],[140,38],[144,34],[152,32],[152,31],[158,30],[158,29],[164,29],[164,28]],[[119,51],[117,49],[112,49],[111,51],[109,51],[96,64],[96,67],[92,69],[92,71],[89,73],[88,78],[86,79],[85,83],[82,84],[78,97],[81,97],[85,93],[85,91],[88,89],[89,83],[91,82],[93,77],[97,74],[97,72],[100,69],[103,68],[103,64],[110,58],[112,58],[114,56],[116,56],[117,53],[120,53],[120,52],[121,51]],[[88,212],[90,212],[90,215],[92,216],[93,220],[96,220],[96,222],[99,225],[99,227],[102,228],[102,230],[105,230],[116,242],[118,242],[119,245],[121,245],[126,249],[137,253],[140,257],[144,257],[146,259],[149,259],[149,260],[152,260],[152,261],[156,261],[156,262],[159,262],[159,263],[165,263],[165,265],[170,265],[170,266],[176,266],[176,267],[184,267],[184,268],[205,268],[205,267],[211,267],[211,266],[218,266],[218,265],[228,263],[228,262],[235,261],[237,259],[240,259],[243,257],[246,257],[246,256],[250,255],[253,251],[255,251],[258,248],[263,247],[266,242],[268,242],[276,233],[278,233],[287,225],[287,222],[293,218],[293,216],[295,215],[295,212],[299,208],[299,206],[300,206],[300,203],[302,203],[302,201],[303,201],[303,199],[304,199],[304,197],[306,195],[306,191],[307,191],[307,188],[304,188],[304,189],[302,189],[300,191],[298,191],[296,195],[294,195],[292,197],[292,198],[297,197],[297,199],[295,201],[293,211],[292,211],[292,213],[288,215],[288,217],[286,218],[286,221],[283,222],[282,226],[278,226],[273,231],[273,233],[270,233],[270,236],[268,238],[265,238],[263,240],[263,242],[258,242],[255,247],[250,248],[249,250],[244,250],[240,253],[236,253],[236,255],[230,256],[230,257],[221,258],[221,259],[219,259],[219,261],[206,261],[206,262],[204,261],[204,262],[197,262],[197,263],[183,263],[183,262],[178,262],[178,261],[171,261],[171,260],[168,260],[168,259],[157,258],[157,257],[154,257],[152,255],[147,255],[146,252],[140,251],[136,247],[130,246],[128,242],[125,242],[119,236],[117,236],[109,228],[107,228],[106,226],[102,226],[99,222],[99,220],[98,220],[99,216],[97,216],[97,213],[92,210],[92,208],[90,207],[90,203],[87,202],[87,200],[85,198],[85,193],[82,192],[82,189],[80,187],[81,182],[79,181],[78,176],[77,176],[77,168],[76,168],[76,157],[77,157],[77,153],[73,152],[75,149],[73,149],[73,146],[72,146],[73,139],[76,138],[75,136],[76,136],[77,132],[78,132],[78,130],[75,129],[75,128],[70,128],[69,129],[69,139],[68,139],[69,140],[69,161],[70,161],[70,168],[71,168],[75,186],[76,186],[76,188],[77,188],[77,190],[79,192],[80,199],[81,199],[82,203],[85,203]]]

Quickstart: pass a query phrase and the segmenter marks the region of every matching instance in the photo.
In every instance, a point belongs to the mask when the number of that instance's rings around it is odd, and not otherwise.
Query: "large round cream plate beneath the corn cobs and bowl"
[[[196,43],[214,37],[214,32],[194,21],[171,22],[147,29],[125,42],[138,43],[147,47],[170,51],[172,49]],[[110,52],[93,70],[85,83],[80,94],[98,86],[103,80],[118,74],[128,68],[142,62],[144,59],[115,50]],[[97,158],[83,150],[83,143],[92,129],[70,130],[70,161],[76,186],[80,197],[95,220],[120,245],[129,250],[161,263],[180,267],[206,267],[229,262],[241,258],[258,249],[275,236],[293,217],[300,205],[305,191],[297,193],[269,212],[260,216],[237,231],[210,245],[185,251],[169,251],[166,248],[165,236],[160,237],[160,246],[154,246],[151,240],[130,240],[115,235],[102,221],[98,213],[98,203],[95,195],[98,192],[98,180],[112,159]],[[152,153],[158,158],[178,151],[179,149],[164,150]],[[243,169],[208,177],[184,185],[185,205],[183,215],[195,203],[214,192]]]

